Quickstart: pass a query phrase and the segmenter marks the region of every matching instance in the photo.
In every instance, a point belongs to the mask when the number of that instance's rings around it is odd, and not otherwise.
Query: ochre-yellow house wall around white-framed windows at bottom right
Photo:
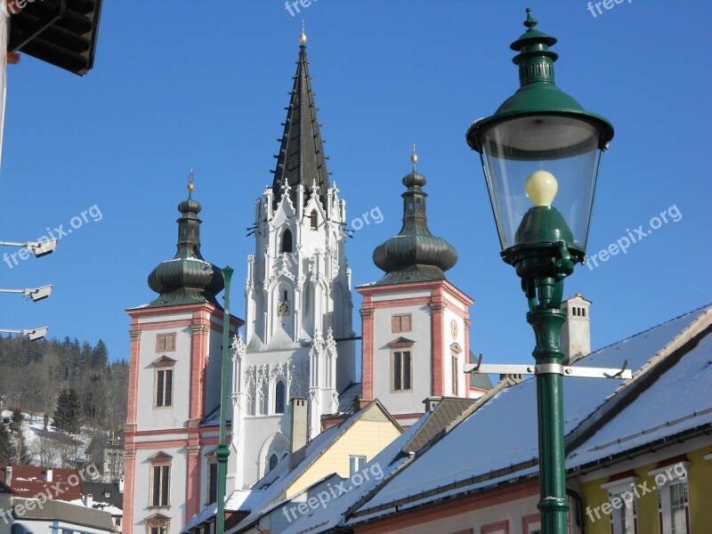
[[[606,476],[582,483],[581,497],[584,501],[587,534],[611,534],[611,516],[604,514],[602,509],[603,504],[609,502],[609,493],[601,486],[611,481],[611,477],[615,478],[616,474],[627,471],[635,472],[638,477],[637,484],[640,494],[637,499],[638,532],[641,534],[659,532],[658,491],[653,490],[655,489],[655,479],[648,473],[655,469],[659,462],[676,457],[680,452],[678,449],[672,453],[666,452],[654,457],[648,455],[644,460],[644,465],[641,465],[641,462],[636,462],[632,469],[629,463],[619,464],[615,471],[606,473]],[[692,532],[704,532],[709,528],[709,525],[712,525],[712,506],[709,506],[709,496],[712,495],[712,460],[705,459],[705,456],[709,454],[712,454],[712,446],[686,453],[690,460],[687,474]],[[651,491],[646,491],[647,488]]]

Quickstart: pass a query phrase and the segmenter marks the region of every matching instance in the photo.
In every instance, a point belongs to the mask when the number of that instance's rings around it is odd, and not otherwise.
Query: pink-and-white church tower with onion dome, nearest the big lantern
[[[385,276],[356,288],[363,295],[361,396],[381,401],[404,426],[424,413],[428,398],[481,394],[462,371],[473,300],[445,278],[457,252],[428,230],[415,145],[411,161],[413,171],[402,180],[401,231],[373,254]]]

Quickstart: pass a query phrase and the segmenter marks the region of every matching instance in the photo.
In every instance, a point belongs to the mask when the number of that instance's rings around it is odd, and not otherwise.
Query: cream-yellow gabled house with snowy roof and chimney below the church
[[[226,532],[280,532],[345,492],[380,480],[380,466],[367,464],[403,433],[377,400],[365,403],[309,442],[306,400],[292,399],[290,413],[289,449],[252,489],[235,491],[228,498]],[[213,522],[211,506],[183,531],[200,532]]]

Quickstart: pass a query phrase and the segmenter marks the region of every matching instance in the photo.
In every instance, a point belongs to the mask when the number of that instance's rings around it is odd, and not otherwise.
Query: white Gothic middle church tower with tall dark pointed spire
[[[246,335],[234,358],[235,488],[252,486],[290,444],[289,400],[308,402],[308,439],[355,379],[345,202],[329,183],[306,36],[271,187],[255,201]]]

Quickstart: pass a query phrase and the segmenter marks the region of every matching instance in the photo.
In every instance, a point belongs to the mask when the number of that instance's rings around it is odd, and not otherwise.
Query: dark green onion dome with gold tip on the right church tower
[[[376,247],[373,261],[385,271],[377,286],[445,279],[457,263],[457,251],[445,239],[433,236],[428,230],[423,191],[425,176],[416,172],[417,154],[413,143],[413,172],[403,177],[408,190],[403,197],[403,226],[397,236]]]

